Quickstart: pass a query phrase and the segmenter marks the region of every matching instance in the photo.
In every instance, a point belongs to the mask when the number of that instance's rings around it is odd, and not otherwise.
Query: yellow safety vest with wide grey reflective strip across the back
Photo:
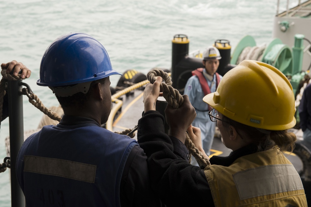
[[[277,148],[204,170],[215,207],[307,206],[299,174]]]

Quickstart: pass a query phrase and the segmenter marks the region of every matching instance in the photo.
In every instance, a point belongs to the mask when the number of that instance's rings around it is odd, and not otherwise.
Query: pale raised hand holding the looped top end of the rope
[[[162,78],[158,76],[153,84],[147,83],[146,88],[144,90],[145,112],[150,110],[156,110],[156,100],[158,99],[160,94],[161,82]]]

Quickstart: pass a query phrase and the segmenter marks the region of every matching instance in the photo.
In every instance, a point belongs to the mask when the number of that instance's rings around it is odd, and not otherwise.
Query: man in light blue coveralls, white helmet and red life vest
[[[203,66],[192,71],[193,76],[188,79],[184,94],[197,112],[197,117],[192,125],[201,129],[202,146],[209,156],[215,135],[216,122],[209,119],[208,112],[211,107],[203,101],[203,97],[209,93],[216,92],[217,86],[222,78],[216,73],[219,66],[220,53],[216,47],[209,47],[203,53]]]

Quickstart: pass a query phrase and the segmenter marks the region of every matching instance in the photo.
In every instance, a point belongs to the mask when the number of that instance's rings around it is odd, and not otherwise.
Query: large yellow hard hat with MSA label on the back
[[[217,91],[203,98],[239,123],[267,130],[295,126],[295,96],[289,80],[275,67],[244,60],[227,72]]]

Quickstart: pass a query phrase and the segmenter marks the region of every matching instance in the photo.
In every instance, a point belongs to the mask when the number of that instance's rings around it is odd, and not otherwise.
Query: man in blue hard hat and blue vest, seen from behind
[[[37,84],[53,91],[64,115],[20,149],[16,175],[27,207],[161,205],[137,141],[101,127],[114,74],[121,75],[90,35],[65,34],[46,49]]]

